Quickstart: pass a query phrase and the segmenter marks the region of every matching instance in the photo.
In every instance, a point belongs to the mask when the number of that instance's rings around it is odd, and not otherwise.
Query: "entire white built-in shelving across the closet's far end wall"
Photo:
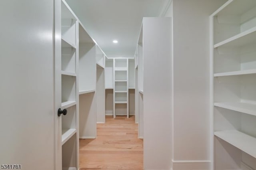
[[[135,114],[134,58],[106,57],[105,90],[106,115]]]

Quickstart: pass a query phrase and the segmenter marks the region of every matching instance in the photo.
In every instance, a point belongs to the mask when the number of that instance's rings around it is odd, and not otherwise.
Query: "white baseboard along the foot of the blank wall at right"
[[[210,160],[172,160],[173,170],[210,170]]]

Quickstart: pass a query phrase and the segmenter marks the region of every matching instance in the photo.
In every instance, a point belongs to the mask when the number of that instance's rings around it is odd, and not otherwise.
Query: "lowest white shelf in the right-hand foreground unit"
[[[218,131],[214,135],[256,158],[256,138],[236,130]]]

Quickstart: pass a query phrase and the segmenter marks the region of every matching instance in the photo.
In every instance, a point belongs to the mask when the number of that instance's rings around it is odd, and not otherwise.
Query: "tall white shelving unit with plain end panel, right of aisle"
[[[166,130],[171,129],[172,115],[171,21],[168,17],[144,17],[135,53],[138,137],[144,139],[144,169],[166,169],[155,155],[168,158],[171,152],[172,139]]]

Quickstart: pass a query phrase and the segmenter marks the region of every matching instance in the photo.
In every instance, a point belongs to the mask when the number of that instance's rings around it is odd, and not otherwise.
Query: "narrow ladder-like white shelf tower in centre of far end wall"
[[[114,58],[113,68],[113,117],[116,117],[116,112],[123,111],[126,105],[126,115],[129,118],[128,59]]]

